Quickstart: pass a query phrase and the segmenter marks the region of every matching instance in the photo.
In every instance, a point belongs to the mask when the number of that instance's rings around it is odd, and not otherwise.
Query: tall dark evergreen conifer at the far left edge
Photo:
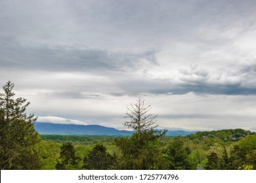
[[[26,114],[26,99],[14,99],[14,84],[7,82],[0,93],[0,166],[1,169],[40,169],[33,114]]]

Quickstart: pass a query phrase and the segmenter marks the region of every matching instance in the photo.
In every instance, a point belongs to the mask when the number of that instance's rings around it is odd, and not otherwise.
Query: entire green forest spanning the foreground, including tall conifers
[[[229,170],[256,169],[256,135],[245,129],[198,131],[167,137],[144,99],[127,108],[131,137],[39,135],[26,114],[30,103],[14,98],[14,84],[0,93],[0,169]]]

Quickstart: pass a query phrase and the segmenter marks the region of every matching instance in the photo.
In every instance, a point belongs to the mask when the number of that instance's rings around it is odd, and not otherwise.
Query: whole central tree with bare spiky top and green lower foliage
[[[145,100],[137,99],[137,104],[127,107],[123,125],[135,130],[132,137],[116,139],[116,146],[121,150],[117,169],[165,169],[162,137],[166,130],[156,129],[156,115],[149,114],[151,106],[145,107]]]

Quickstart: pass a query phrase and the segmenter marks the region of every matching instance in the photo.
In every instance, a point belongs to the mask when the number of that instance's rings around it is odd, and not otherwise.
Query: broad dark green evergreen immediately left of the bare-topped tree
[[[116,158],[106,152],[106,146],[96,144],[87,157],[83,159],[83,168],[87,170],[110,170]]]

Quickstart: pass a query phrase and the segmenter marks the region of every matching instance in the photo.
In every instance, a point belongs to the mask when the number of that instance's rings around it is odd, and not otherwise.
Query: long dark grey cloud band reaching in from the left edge
[[[2,44],[1,67],[43,71],[93,71],[136,69],[143,63],[157,64],[156,51],[108,52],[99,49],[24,47]]]

